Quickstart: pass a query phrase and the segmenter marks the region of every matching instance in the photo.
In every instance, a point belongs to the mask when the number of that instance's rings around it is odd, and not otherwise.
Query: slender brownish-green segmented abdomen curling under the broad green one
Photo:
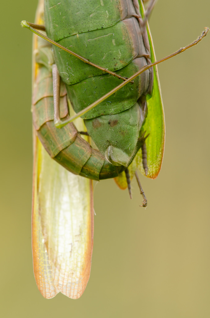
[[[42,43],[42,39],[39,42]],[[74,124],[69,123],[61,129],[55,127],[52,73],[43,60],[43,52],[49,57],[51,47],[46,44],[39,49],[36,51],[39,64],[33,90],[32,113],[37,135],[44,148],[53,159],[74,174],[94,180],[118,176],[125,167],[105,162],[102,154],[80,136]],[[60,96],[60,115],[61,118],[67,118],[67,92],[62,81]]]

